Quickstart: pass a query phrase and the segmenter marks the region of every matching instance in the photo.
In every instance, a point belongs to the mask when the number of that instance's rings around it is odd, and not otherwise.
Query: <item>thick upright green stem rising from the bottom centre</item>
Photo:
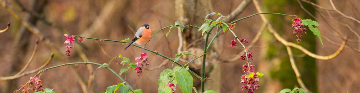
[[[215,27],[212,27],[209,32],[206,32],[206,39],[204,44],[204,56],[203,56],[203,63],[202,63],[202,70],[201,70],[201,93],[205,92],[205,63],[206,63],[206,53],[207,53],[207,41],[209,40],[209,36],[211,31]]]

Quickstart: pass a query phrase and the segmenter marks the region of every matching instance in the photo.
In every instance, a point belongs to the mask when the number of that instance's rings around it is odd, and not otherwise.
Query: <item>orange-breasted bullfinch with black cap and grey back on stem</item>
[[[136,31],[134,38],[132,39],[131,43],[126,46],[126,48],[135,43],[138,45],[142,45],[144,47],[144,45],[147,42],[149,42],[151,36],[152,36],[152,33],[151,33],[150,26],[147,24],[144,24],[143,26],[141,26],[139,28],[138,31]],[[126,50],[126,48],[124,50]]]

